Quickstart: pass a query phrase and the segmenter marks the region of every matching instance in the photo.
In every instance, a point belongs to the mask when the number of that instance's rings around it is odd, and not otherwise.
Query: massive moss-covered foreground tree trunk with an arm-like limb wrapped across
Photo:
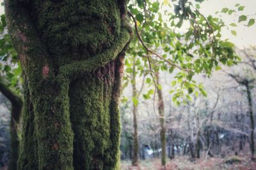
[[[125,1],[5,1],[24,71],[18,169],[118,169]]]

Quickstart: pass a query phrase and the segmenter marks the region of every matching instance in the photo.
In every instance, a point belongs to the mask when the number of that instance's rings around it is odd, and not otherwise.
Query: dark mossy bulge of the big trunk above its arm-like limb
[[[120,34],[120,12],[115,1],[38,0],[32,6],[36,27],[60,66],[102,52]],[[88,53],[81,56],[84,51]]]

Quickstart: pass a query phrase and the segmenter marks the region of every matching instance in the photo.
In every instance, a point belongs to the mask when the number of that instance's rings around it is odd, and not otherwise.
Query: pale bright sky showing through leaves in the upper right
[[[164,0],[160,0],[164,1]],[[2,3],[3,0],[0,0],[0,3]],[[169,2],[171,2],[169,0]],[[235,5],[239,3],[243,6],[245,6],[244,11],[239,13],[239,15],[252,15],[251,17],[255,18],[256,20],[256,1],[255,0],[205,0],[204,3],[201,4],[200,11],[204,15],[215,15],[216,11],[221,11],[222,8],[230,8],[230,9],[236,9]],[[4,13],[3,6],[0,8],[0,13]],[[218,17],[219,14],[217,14]],[[229,25],[232,22],[237,23],[238,17],[236,15],[227,15],[227,14],[221,14],[223,17],[223,21]],[[246,27],[243,24],[247,24],[246,22],[241,22],[237,24],[237,27],[230,27],[230,29],[237,32],[237,36],[233,36],[230,31],[223,30],[222,35],[223,38],[228,38],[230,41],[235,43],[236,46],[239,48],[243,48],[244,46],[249,45],[256,45],[256,24],[251,27]],[[186,25],[185,25],[186,26]],[[185,27],[184,26],[184,27]]]

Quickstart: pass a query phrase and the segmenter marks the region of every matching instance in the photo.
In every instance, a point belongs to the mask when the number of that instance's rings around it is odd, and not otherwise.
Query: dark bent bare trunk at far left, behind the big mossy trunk
[[[10,101],[12,104],[11,110],[11,122],[10,122],[10,160],[9,160],[9,170],[17,169],[17,161],[19,157],[19,124],[20,115],[22,110],[22,99],[20,96],[15,94],[12,90],[8,89],[6,85],[0,81],[0,92]]]

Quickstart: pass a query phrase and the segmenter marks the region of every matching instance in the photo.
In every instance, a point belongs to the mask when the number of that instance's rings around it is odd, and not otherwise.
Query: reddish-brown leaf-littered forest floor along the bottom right
[[[131,161],[124,160],[121,163],[122,170],[161,170],[161,159],[140,160],[138,167],[132,167]],[[256,170],[256,162],[249,156],[232,156],[221,159],[219,157],[209,157],[196,159],[194,162],[188,156],[178,156],[175,159],[168,159],[166,170]]]

